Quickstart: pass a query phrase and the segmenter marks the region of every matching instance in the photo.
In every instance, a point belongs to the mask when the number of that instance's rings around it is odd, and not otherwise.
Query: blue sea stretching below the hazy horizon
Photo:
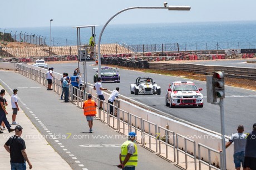
[[[51,27],[52,45],[77,44],[77,25]],[[96,43],[103,25],[95,27]],[[35,34],[50,45],[49,27],[7,28],[6,32],[25,35]],[[17,36],[18,37],[18,36]],[[91,28],[81,28],[81,43],[87,44]],[[19,40],[19,39],[18,39]],[[149,23],[109,24],[105,28],[101,44],[174,44],[186,50],[256,48],[256,21],[233,22],[190,22],[190,23]]]

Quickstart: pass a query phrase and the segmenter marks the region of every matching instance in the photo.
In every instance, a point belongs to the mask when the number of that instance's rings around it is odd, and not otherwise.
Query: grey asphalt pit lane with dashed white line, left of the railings
[[[19,107],[72,169],[118,169],[121,144],[126,141],[120,133],[99,120],[93,121],[93,133],[88,133],[81,109],[21,74],[0,70],[0,83],[10,95],[11,89],[18,89]],[[22,126],[19,114],[24,113],[19,111],[16,117]],[[137,169],[179,169],[141,146],[138,154]]]

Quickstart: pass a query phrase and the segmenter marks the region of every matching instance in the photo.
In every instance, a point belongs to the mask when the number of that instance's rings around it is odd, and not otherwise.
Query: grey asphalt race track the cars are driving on
[[[241,63],[240,65],[245,67],[247,66],[247,64],[244,63],[246,60],[232,60],[233,64],[229,65],[234,66],[234,63]],[[220,65],[227,64],[224,60],[220,62],[222,62]],[[93,68],[97,68],[97,65],[93,64],[95,64],[94,61],[87,62],[87,81],[91,84],[94,84],[93,74],[95,74],[95,70],[93,70]],[[50,66],[53,66],[53,68],[55,68],[54,71],[57,73],[67,72],[68,75],[72,75],[73,70],[77,68],[77,63],[50,64]],[[119,86],[121,95],[141,102],[141,104],[154,107],[154,109],[160,110],[165,114],[173,115],[179,119],[194,123],[195,125],[199,125],[211,131],[221,132],[220,109],[218,105],[209,104],[206,101],[206,82],[124,69],[119,69],[119,73],[121,75],[121,83],[103,83],[102,87],[106,87],[112,91]],[[161,95],[131,95],[130,84],[135,83],[136,78],[139,76],[149,76],[152,78],[157,85],[161,86]],[[173,81],[181,80],[193,81],[196,86],[203,88],[203,91],[201,91],[205,97],[203,108],[183,106],[171,109],[165,106],[165,94],[169,84]],[[232,133],[235,133],[237,131],[237,126],[240,124],[244,125],[245,132],[251,131],[252,125],[256,120],[256,91],[225,86],[225,96],[225,134],[231,135]]]

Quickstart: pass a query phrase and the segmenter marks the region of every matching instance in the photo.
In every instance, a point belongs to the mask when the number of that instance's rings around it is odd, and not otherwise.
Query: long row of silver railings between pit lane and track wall
[[[42,84],[43,86],[47,87],[47,80],[46,80],[46,73],[42,73],[42,71],[38,71],[36,69],[33,68],[29,68],[23,64],[15,64],[14,66],[14,70],[16,70],[16,72],[18,72],[19,74],[22,74],[23,76],[26,76],[29,79],[35,80],[38,83]],[[60,80],[53,78],[53,91],[55,91],[57,94],[61,95],[62,92],[62,85]],[[71,102],[73,104],[75,104],[76,106],[82,108],[83,105],[83,101],[84,99],[87,99],[87,95],[88,93],[85,92],[83,89],[77,89],[76,87],[70,86],[70,90],[69,90],[69,97],[71,99]],[[97,96],[92,96],[92,99],[95,100],[95,102],[97,102],[98,106],[100,104],[100,99]],[[136,133],[138,133],[140,131],[141,133],[141,138],[140,140],[137,140],[137,142],[141,142],[142,145],[144,145],[145,147],[147,147],[145,145],[145,136],[149,137],[149,149],[153,152],[158,152],[158,147],[159,147],[159,153],[161,153],[161,143],[162,145],[166,145],[165,146],[165,150],[166,150],[166,158],[169,157],[168,154],[168,147],[172,147],[173,148],[173,154],[174,154],[174,162],[179,163],[179,152],[182,152],[185,154],[185,163],[186,163],[186,168],[188,168],[188,159],[187,156],[194,158],[195,161],[195,169],[196,169],[196,147],[195,147],[195,141],[190,140],[189,138],[186,138],[178,133],[176,133],[173,131],[170,131],[164,127],[161,126],[157,126],[155,123],[152,123],[150,121],[147,121],[145,119],[142,119],[139,116],[136,115],[132,115],[127,111],[124,111],[122,109],[120,109],[119,107],[115,105],[112,105],[114,107],[114,110],[116,111],[116,116],[114,115],[110,115],[109,112],[109,107],[111,106],[111,104],[107,103],[106,101],[103,101],[103,110],[99,110],[99,119],[103,122],[106,122],[109,126],[112,126],[113,128],[117,127],[116,129],[121,132],[121,126],[122,126],[122,133],[125,133],[125,127],[127,127],[126,129],[128,130],[128,132],[135,130]],[[103,117],[102,117],[103,114]],[[107,116],[107,120],[105,119],[105,117]],[[112,125],[111,125],[111,121],[110,118],[112,117]],[[116,125],[115,125],[116,122]],[[147,125],[147,126],[146,126]],[[153,130],[151,129],[153,127]],[[148,131],[148,132],[146,132]],[[160,134],[162,131],[164,131],[164,134],[166,136],[165,140],[161,140],[157,134]],[[171,141],[169,141],[169,134],[173,135],[173,145],[171,145]],[[139,135],[138,135],[139,136]],[[178,137],[181,137],[184,139],[185,142],[185,151],[181,150],[179,148],[179,139]],[[154,138],[155,140],[155,149],[151,149],[151,145],[152,145],[152,138]],[[176,142],[175,142],[176,139]],[[187,141],[190,141],[194,144],[194,154],[190,154],[189,151],[187,150]],[[202,147],[206,147],[204,145],[201,145]],[[200,150],[200,146],[199,146],[199,163],[204,163],[207,166],[209,166],[209,168],[214,168],[211,164],[210,164],[210,157],[209,157],[209,163],[207,163],[206,161],[200,160],[200,154],[201,154],[201,150]],[[212,148],[206,147],[208,148],[210,151],[215,151]],[[218,151],[217,151],[218,152]],[[200,166],[200,164],[199,164]]]

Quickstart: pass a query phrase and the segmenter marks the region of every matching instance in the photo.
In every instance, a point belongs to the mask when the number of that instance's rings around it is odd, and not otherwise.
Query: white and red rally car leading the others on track
[[[193,105],[203,107],[201,90],[191,81],[174,81],[169,85],[165,95],[165,105],[170,107]]]

